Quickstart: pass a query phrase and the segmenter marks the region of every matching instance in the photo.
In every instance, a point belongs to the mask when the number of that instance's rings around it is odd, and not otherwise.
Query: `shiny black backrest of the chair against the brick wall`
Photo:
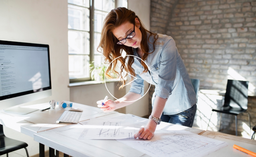
[[[248,81],[228,80],[224,107],[241,108],[247,110]]]

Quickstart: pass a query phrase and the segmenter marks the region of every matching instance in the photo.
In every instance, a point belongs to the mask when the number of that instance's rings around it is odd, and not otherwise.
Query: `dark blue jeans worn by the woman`
[[[186,127],[192,127],[195,119],[195,112],[196,112],[196,104],[193,105],[188,110],[177,113],[175,115],[164,115],[164,113],[162,113],[161,121],[177,124],[177,125],[183,125]]]

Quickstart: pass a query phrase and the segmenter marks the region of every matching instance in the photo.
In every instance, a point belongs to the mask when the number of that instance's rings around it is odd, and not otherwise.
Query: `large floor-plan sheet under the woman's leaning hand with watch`
[[[223,141],[207,138],[185,130],[157,130],[150,140],[120,139],[131,146],[153,157],[162,156],[205,156],[228,145]]]

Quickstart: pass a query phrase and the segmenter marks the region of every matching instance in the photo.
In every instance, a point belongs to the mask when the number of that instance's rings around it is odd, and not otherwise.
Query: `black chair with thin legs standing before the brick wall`
[[[235,115],[237,136],[237,115],[245,112],[248,114],[249,127],[251,129],[250,114],[246,112],[248,106],[248,81],[228,80],[224,106],[212,109],[220,112],[219,131],[221,127],[222,113]],[[210,118],[211,119],[211,118]]]

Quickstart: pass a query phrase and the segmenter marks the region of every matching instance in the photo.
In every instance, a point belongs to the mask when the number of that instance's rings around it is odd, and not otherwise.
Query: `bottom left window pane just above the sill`
[[[89,78],[89,56],[68,55],[69,78]]]

